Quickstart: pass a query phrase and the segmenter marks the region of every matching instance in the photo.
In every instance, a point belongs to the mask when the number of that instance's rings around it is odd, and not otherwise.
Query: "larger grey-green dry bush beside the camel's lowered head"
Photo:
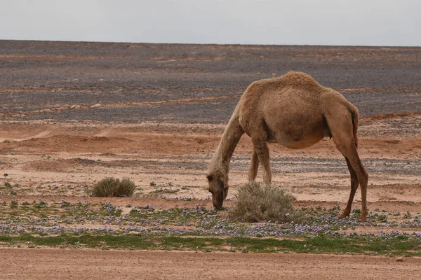
[[[274,186],[262,188],[258,183],[246,183],[239,188],[236,200],[228,216],[233,220],[246,222],[302,221],[301,211],[293,209],[295,197]]]

